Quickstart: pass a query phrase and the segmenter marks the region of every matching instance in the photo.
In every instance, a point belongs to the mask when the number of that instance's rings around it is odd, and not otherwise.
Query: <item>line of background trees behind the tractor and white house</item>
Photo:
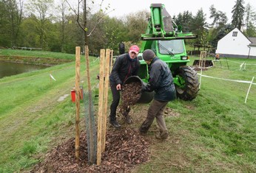
[[[0,46],[74,53],[75,46],[84,45],[84,31],[90,36],[87,45],[91,54],[98,54],[102,48],[110,48],[118,53],[118,43],[121,41],[127,47],[132,43],[140,45],[149,10],[116,18],[108,15],[108,10],[111,13],[110,7],[92,12],[92,3],[84,6],[86,10],[80,5],[70,10],[68,0],[62,0],[57,6],[54,0],[27,0],[25,4],[24,0],[0,0]],[[256,13],[250,4],[245,6],[244,0],[235,2],[230,24],[226,13],[217,10],[214,5],[209,10],[211,24],[207,23],[203,9],[199,9],[195,15],[184,11],[173,16],[175,23],[182,26],[183,32],[198,35],[196,40],[186,40],[191,46],[198,44],[215,48],[218,40],[235,27],[244,28],[242,31],[248,37],[256,37]],[[82,18],[84,14],[86,19]],[[83,28],[80,22],[84,20],[86,27]]]

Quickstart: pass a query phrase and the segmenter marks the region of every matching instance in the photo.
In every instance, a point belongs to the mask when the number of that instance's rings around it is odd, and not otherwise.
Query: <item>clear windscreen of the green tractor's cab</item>
[[[159,40],[158,49],[160,54],[181,54],[184,52],[183,40]]]

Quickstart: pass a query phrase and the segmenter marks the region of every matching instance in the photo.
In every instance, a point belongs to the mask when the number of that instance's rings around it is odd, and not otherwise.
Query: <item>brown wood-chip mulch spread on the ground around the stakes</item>
[[[75,160],[75,138],[55,147],[43,162],[31,172],[130,172],[132,168],[149,160],[149,142],[138,131],[128,127],[107,130],[106,149],[102,153],[101,165],[87,164],[87,138],[81,133],[80,160]]]

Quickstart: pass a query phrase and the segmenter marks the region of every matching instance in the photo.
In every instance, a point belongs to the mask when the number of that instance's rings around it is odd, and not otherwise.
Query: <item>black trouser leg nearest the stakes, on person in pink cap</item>
[[[116,89],[116,85],[110,83],[110,88],[112,91],[112,103],[110,105],[110,121],[115,121],[116,119],[116,109],[120,101],[120,91]]]

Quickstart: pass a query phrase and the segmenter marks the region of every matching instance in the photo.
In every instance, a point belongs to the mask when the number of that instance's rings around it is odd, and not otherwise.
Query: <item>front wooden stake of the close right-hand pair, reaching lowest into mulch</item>
[[[100,82],[98,91],[98,135],[97,135],[97,165],[101,165],[101,137],[103,117],[103,96],[104,96],[104,65],[105,50],[101,49],[100,55]]]

